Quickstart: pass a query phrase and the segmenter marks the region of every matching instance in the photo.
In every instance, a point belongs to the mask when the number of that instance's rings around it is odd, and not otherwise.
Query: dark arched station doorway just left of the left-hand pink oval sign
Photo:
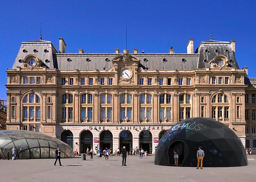
[[[93,147],[93,134],[84,130],[80,135],[80,153],[86,153],[87,147],[89,150]]]

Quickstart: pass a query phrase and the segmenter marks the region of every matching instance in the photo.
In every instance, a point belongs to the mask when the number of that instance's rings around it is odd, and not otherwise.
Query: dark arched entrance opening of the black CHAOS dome
[[[182,165],[182,162],[184,161],[188,152],[187,145],[182,141],[175,141],[170,145],[168,149],[168,158],[170,165],[174,165],[174,149],[178,149],[178,165]]]

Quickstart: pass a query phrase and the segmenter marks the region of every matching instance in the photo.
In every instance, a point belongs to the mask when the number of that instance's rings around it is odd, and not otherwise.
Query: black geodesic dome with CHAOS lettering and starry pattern
[[[158,143],[155,165],[174,165],[173,150],[178,149],[178,164],[195,167],[199,146],[205,153],[204,167],[248,165],[240,138],[225,124],[210,118],[189,118],[170,128]]]

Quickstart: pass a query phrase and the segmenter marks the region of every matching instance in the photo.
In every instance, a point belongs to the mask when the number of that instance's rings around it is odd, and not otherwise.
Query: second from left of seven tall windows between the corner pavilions
[[[82,94],[81,95],[81,122],[93,122],[93,95]]]

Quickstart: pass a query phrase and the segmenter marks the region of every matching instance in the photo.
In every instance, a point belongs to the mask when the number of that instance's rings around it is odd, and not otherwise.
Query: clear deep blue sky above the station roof
[[[42,22],[43,40],[66,52],[110,53],[114,48],[138,48],[145,53],[186,53],[188,40],[194,48],[201,41],[236,40],[240,68],[249,67],[256,77],[256,1],[52,1],[1,0],[0,7],[0,99],[6,99],[7,68],[11,68],[22,41],[38,40]]]

